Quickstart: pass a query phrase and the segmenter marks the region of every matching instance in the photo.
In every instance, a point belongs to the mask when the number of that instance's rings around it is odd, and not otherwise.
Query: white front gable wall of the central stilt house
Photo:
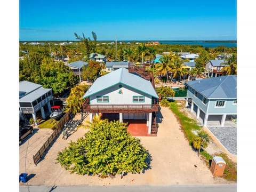
[[[107,90],[101,91],[90,96],[90,105],[151,105],[151,96],[140,91],[134,90],[131,87],[122,85],[119,88],[119,84],[110,87]],[[122,94],[119,94],[119,90],[122,90]],[[109,102],[97,102],[97,96],[108,96]],[[133,102],[133,96],[145,96],[145,102]]]

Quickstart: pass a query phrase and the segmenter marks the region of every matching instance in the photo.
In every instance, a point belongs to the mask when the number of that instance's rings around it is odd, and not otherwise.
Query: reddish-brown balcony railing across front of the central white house
[[[153,105],[90,105],[87,98],[83,111],[89,113],[151,113],[158,111],[158,103]]]

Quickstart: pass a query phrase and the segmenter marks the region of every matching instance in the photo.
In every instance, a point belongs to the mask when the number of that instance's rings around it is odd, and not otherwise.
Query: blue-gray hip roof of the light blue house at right
[[[187,84],[208,99],[237,98],[236,75],[199,79]]]

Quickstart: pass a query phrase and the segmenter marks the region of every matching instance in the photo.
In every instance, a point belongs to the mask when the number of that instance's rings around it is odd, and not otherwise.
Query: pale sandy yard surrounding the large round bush
[[[67,140],[62,139],[62,133],[49,149],[44,159],[36,166],[33,155],[42,146],[50,129],[38,130],[20,146],[20,173],[34,174],[27,183],[22,185],[44,186],[108,186],[108,185],[212,185],[234,183],[222,178],[214,178],[209,167],[197,156],[185,139],[177,119],[172,111],[162,107],[162,122],[159,123],[157,137],[140,137],[142,145],[149,150],[153,160],[151,169],[140,174],[127,174],[121,179],[100,179],[97,176],[70,174],[59,163],[55,163],[58,151],[63,150],[68,143],[83,137],[86,132],[80,127]],[[80,115],[76,116],[80,118]],[[88,121],[86,117],[85,121]],[[83,122],[83,123],[84,123]],[[218,149],[218,147],[216,147]],[[215,150],[212,147],[211,150]],[[219,150],[219,149],[218,149]],[[196,165],[196,166],[195,166]]]

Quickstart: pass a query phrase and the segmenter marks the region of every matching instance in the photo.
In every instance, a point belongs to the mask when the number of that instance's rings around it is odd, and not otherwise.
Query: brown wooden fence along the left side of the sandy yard
[[[45,155],[45,152],[50,147],[52,142],[54,142],[54,139],[59,135],[59,133],[62,131],[64,125],[66,122],[69,121],[70,118],[71,109],[60,119],[60,121],[57,123],[56,128],[54,132],[51,134],[51,136],[45,141],[44,145],[37,151],[35,155],[33,155],[34,163],[35,165],[40,161],[40,159]]]

